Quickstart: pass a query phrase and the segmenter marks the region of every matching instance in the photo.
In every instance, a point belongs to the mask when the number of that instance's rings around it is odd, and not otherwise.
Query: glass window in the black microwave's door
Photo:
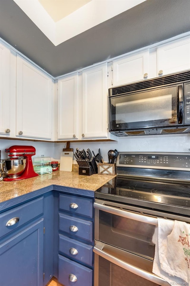
[[[178,87],[110,98],[111,129],[177,125]]]

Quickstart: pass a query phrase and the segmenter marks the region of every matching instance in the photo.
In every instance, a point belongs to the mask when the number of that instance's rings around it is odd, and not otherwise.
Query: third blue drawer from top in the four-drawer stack
[[[76,259],[79,262],[83,262],[85,264],[92,266],[92,261],[93,261],[92,249],[93,246],[91,245],[81,243],[77,240],[59,234],[59,251],[61,251],[63,254],[69,256],[72,259]]]

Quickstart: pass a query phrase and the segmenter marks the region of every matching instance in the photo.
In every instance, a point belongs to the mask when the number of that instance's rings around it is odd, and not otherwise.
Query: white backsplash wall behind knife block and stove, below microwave
[[[65,143],[55,143],[56,159],[60,159]],[[165,134],[148,136],[120,137],[115,142],[71,142],[70,148],[90,149],[98,153],[100,148],[103,160],[108,161],[107,152],[117,149],[119,152],[186,152],[190,153],[190,134]],[[75,158],[73,159],[75,163]]]

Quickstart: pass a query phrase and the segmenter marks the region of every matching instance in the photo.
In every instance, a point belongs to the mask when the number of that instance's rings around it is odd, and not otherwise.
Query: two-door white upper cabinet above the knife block
[[[58,80],[58,140],[110,139],[107,63]]]

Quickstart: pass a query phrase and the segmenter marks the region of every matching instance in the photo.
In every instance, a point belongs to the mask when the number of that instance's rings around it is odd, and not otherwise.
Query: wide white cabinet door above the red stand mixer
[[[51,139],[52,79],[17,55],[16,136]]]

